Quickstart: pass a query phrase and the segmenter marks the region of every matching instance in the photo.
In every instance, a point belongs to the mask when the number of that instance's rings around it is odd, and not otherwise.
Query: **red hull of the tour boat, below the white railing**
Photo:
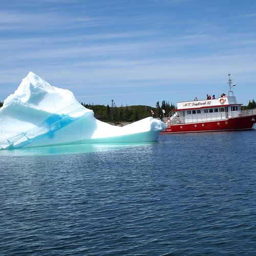
[[[256,116],[245,116],[211,122],[166,124],[168,127],[160,134],[251,130],[255,120]]]

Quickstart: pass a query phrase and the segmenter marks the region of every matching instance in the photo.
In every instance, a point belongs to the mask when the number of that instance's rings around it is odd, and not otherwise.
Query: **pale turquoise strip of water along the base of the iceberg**
[[[140,143],[94,143],[79,145],[58,145],[44,147],[19,148],[17,150],[0,150],[0,156],[47,156],[65,154],[86,154],[110,150],[121,150],[128,147],[151,146],[158,142]]]

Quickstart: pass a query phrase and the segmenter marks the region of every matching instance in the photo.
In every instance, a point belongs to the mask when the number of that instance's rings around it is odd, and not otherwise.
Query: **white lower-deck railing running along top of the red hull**
[[[232,111],[232,112],[218,112],[218,113],[206,113],[206,114],[193,114],[191,116],[181,117],[178,112],[176,115],[171,117],[165,117],[161,120],[165,124],[184,124],[184,123],[197,123],[197,122],[211,122],[226,120],[228,118],[244,117],[256,115],[256,109],[242,110],[242,111]]]

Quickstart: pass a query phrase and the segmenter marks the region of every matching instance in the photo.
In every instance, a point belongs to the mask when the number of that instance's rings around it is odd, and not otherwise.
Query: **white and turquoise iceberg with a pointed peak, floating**
[[[115,126],[94,117],[74,94],[29,72],[0,109],[0,150],[85,143],[157,141],[166,125],[153,117]]]

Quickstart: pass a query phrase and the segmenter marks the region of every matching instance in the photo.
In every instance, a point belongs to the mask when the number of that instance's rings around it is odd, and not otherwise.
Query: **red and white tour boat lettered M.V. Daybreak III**
[[[231,91],[236,84],[228,77],[228,96],[178,102],[177,109],[161,118],[168,126],[161,134],[256,129],[256,109],[241,110]]]

